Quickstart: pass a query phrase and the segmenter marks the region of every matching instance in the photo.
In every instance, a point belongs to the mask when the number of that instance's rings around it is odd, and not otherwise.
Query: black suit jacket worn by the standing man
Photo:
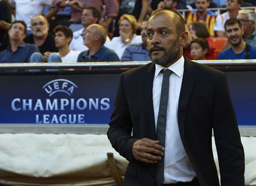
[[[156,164],[147,164],[132,156],[136,140],[156,140],[154,73],[155,64],[149,63],[121,74],[109,123],[107,134],[112,147],[129,161],[124,179],[127,186],[154,185]],[[244,185],[244,151],[223,72],[185,57],[178,124],[183,146],[201,186],[219,185],[212,153],[212,128],[221,186]]]

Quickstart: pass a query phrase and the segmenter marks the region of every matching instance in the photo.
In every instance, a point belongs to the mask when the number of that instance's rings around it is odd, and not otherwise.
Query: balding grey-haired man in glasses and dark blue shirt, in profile
[[[103,44],[106,41],[107,31],[98,24],[92,24],[83,31],[83,44],[89,50],[79,54],[77,62],[109,62],[119,61],[116,53]]]

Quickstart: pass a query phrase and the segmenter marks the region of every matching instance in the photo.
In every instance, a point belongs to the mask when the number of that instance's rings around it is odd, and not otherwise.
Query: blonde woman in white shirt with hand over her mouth
[[[119,37],[113,37],[108,48],[114,50],[118,58],[121,59],[125,48],[129,44],[141,43],[141,35],[135,35],[137,30],[136,18],[132,15],[124,14],[118,21]]]

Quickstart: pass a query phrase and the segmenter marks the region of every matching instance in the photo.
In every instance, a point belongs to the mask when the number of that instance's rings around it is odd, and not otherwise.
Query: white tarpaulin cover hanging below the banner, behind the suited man
[[[245,185],[256,186],[256,137],[241,137],[245,151]],[[213,142],[214,159],[218,169]],[[113,153],[121,176],[128,161],[106,135],[0,134],[0,183],[23,186],[114,186],[107,162]]]

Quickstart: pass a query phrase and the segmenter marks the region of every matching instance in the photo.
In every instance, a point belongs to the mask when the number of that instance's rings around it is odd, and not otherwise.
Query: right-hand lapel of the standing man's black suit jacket
[[[185,129],[185,120],[186,120],[186,110],[189,97],[192,93],[196,75],[195,70],[192,65],[192,61],[190,61],[186,56],[184,56],[184,73],[181,85],[181,92],[179,98],[179,106],[178,106],[178,123],[179,130],[181,135],[181,140],[184,140],[184,129]]]

